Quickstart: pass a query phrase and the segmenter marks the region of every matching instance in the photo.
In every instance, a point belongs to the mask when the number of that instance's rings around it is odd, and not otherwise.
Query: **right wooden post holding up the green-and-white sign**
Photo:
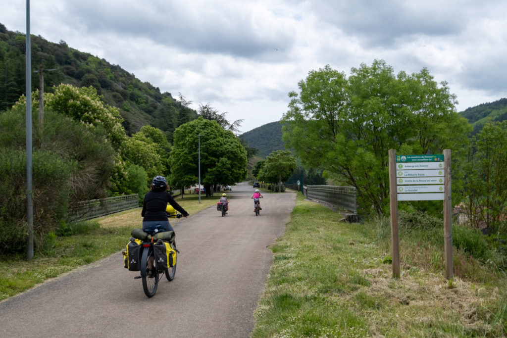
[[[451,199],[451,151],[444,149],[444,254],[445,254],[445,276],[447,279],[453,277],[452,261],[452,199]]]

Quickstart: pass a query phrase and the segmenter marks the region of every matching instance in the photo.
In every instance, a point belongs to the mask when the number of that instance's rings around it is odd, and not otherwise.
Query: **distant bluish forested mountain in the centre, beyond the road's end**
[[[248,146],[259,149],[257,156],[266,158],[277,150],[285,150],[282,141],[282,125],[279,121],[257,127],[239,136]]]

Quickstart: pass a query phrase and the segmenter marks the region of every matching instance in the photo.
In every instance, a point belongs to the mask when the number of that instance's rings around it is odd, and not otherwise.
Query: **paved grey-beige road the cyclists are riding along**
[[[256,216],[252,194],[239,183],[225,217],[211,207],[176,224],[176,277],[163,277],[152,298],[119,251],[0,303],[0,336],[247,337],[272,262],[267,246],[296,200],[266,193]]]

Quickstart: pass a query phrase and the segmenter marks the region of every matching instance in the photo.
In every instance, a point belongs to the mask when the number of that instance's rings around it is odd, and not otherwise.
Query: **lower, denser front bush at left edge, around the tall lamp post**
[[[65,217],[74,166],[68,159],[45,151],[34,152],[32,162],[33,234],[35,246],[41,247],[53,224]],[[20,252],[27,236],[24,150],[0,151],[0,177],[0,252]]]

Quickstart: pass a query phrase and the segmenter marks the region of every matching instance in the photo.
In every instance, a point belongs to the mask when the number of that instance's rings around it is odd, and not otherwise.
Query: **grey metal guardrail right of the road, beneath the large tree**
[[[303,190],[308,199],[357,213],[357,191],[353,186],[308,185]]]

